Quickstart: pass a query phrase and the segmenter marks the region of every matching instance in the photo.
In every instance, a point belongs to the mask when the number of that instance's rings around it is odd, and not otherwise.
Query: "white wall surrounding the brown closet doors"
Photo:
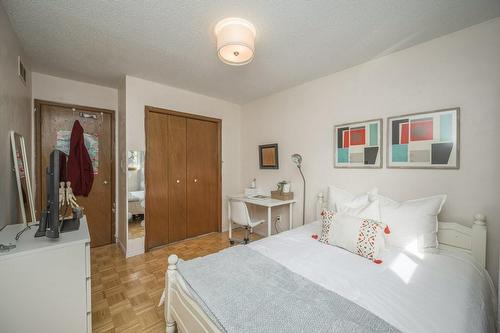
[[[222,227],[226,230],[225,198],[241,192],[240,106],[131,76],[126,77],[126,100],[127,150],[145,150],[146,105],[222,119]]]

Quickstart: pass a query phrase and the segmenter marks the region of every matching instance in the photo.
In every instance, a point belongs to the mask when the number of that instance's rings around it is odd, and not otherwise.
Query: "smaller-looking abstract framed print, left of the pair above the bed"
[[[382,119],[335,126],[333,157],[335,168],[381,168]]]

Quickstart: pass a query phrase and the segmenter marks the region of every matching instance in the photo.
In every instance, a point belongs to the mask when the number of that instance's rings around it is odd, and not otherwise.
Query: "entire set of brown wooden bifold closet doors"
[[[220,120],[146,108],[146,250],[219,230]]]

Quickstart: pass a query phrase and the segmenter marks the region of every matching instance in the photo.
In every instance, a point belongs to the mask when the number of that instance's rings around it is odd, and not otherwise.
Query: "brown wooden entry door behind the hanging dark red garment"
[[[114,241],[114,113],[110,110],[35,101],[37,110],[36,172],[38,216],[42,203],[46,202],[45,170],[49,155],[60,147],[57,139],[71,133],[78,120],[97,141],[97,163],[94,164],[94,182],[87,197],[78,196],[78,204],[84,208],[90,231],[91,246],[101,246]],[[60,140],[61,142],[62,140]],[[89,154],[92,153],[89,151]]]

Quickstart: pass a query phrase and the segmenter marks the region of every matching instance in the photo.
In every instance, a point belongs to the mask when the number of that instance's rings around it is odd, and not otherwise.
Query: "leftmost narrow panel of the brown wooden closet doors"
[[[168,116],[146,117],[146,238],[145,247],[168,244],[169,170]]]

